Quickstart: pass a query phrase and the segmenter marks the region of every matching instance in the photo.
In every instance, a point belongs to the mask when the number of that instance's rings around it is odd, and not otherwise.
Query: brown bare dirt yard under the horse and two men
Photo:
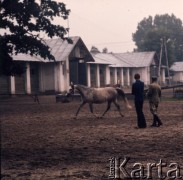
[[[183,101],[162,101],[159,114],[163,126],[150,128],[152,116],[145,101],[148,127],[135,129],[136,113],[119,102],[125,117],[112,106],[103,119],[97,119],[86,105],[78,119],[74,114],[79,101],[56,103],[55,97],[40,97],[40,104],[30,97],[0,100],[1,179],[21,180],[104,180],[109,178],[111,157],[130,157],[125,169],[134,163],[163,163],[168,170],[180,166],[183,176]],[[95,105],[97,115],[106,108]],[[137,168],[136,168],[137,169]],[[175,172],[172,173],[172,176]],[[120,178],[124,179],[121,172]],[[153,168],[158,179],[158,167]]]

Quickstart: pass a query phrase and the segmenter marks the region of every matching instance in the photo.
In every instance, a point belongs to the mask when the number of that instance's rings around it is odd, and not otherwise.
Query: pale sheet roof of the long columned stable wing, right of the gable
[[[132,53],[91,53],[95,64],[108,64],[110,67],[147,67],[154,63],[155,52]]]

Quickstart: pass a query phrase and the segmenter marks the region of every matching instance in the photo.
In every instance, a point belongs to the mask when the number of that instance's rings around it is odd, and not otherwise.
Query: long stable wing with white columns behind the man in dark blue
[[[156,75],[157,72],[154,60],[155,52],[100,53],[94,50],[91,51],[91,54],[94,62],[87,63],[88,86],[100,87],[117,83],[122,86],[131,86],[136,73],[139,73],[141,80],[148,85],[151,76]],[[91,78],[94,73],[96,78]],[[165,82],[163,68],[161,69],[161,81]]]

